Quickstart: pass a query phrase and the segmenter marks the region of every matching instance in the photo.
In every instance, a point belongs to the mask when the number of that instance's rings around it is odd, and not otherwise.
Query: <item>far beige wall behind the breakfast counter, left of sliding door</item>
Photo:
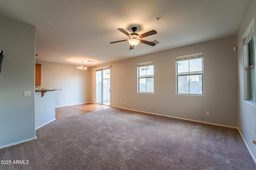
[[[36,64],[42,64],[41,88],[62,89],[56,90],[55,106],[91,102],[90,69],[79,71],[75,65],[46,61],[36,61]]]

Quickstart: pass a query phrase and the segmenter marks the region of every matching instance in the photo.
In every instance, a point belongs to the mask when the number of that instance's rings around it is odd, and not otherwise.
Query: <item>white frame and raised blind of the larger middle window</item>
[[[179,74],[178,73],[178,62],[179,61],[188,61],[189,62],[188,70],[190,70],[190,60],[193,60],[193,59],[202,59],[201,60],[201,63],[202,63],[202,73],[189,73],[189,71],[188,71],[188,74]],[[189,82],[188,93],[180,93],[179,92],[179,90],[178,90],[179,89],[179,86],[178,86],[179,77],[181,77],[181,76],[188,76],[189,79],[190,79],[190,76],[200,76],[200,75],[202,77],[202,94],[190,93],[190,90],[191,90],[190,82]],[[204,96],[204,59],[203,59],[203,53],[202,52],[194,53],[194,54],[189,54],[189,55],[176,56],[176,94],[177,95]]]

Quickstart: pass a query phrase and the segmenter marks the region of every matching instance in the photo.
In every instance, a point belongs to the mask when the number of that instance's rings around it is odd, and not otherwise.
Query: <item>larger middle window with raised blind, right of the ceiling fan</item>
[[[176,57],[177,94],[203,95],[203,53]]]

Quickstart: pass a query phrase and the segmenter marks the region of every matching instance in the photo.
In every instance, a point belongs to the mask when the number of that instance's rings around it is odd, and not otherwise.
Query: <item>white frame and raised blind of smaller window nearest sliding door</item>
[[[140,77],[140,69],[144,68],[147,66],[153,66],[153,74],[151,75],[146,75],[143,77]],[[147,84],[147,78],[151,78],[152,79],[152,83],[153,83],[153,92],[147,92],[147,90],[145,92],[140,92],[140,79],[145,78],[146,80],[146,84]],[[150,94],[154,94],[154,61],[146,61],[146,62],[142,62],[142,63],[137,63],[137,93],[150,93]]]

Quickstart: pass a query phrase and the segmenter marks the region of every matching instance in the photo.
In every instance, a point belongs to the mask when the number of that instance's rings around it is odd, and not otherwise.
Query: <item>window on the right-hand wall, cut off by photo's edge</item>
[[[249,31],[248,31],[249,30]],[[255,102],[255,38],[254,20],[244,36],[244,99]]]

